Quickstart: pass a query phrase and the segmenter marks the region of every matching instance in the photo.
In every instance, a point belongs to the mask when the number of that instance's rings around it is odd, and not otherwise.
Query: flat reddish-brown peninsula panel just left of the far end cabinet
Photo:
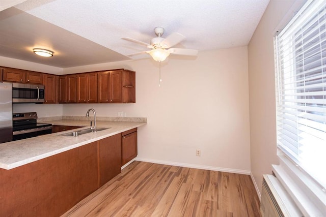
[[[121,173],[121,136],[98,141],[99,187]]]

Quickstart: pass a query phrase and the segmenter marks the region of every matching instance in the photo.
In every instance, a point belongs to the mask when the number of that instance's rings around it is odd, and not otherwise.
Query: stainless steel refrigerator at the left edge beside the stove
[[[12,141],[12,84],[0,82],[0,143]]]

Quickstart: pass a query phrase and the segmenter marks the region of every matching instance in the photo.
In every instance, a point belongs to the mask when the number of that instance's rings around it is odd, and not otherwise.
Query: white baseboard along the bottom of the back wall
[[[135,158],[136,161],[143,161],[155,164],[165,164],[171,166],[178,166],[178,167],[187,167],[187,168],[195,168],[195,169],[203,169],[203,170],[212,170],[212,171],[220,171],[220,172],[229,172],[229,173],[238,173],[244,175],[250,175],[249,170],[238,170],[238,169],[230,169],[230,168],[222,168],[222,167],[211,167],[205,165],[198,165],[198,164],[186,164],[186,163],[179,163],[173,161],[160,161],[155,159],[144,159],[144,158]]]

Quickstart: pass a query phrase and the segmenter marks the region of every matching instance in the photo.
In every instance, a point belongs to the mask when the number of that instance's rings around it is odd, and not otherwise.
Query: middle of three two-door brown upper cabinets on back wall
[[[97,73],[77,75],[77,102],[97,103]]]

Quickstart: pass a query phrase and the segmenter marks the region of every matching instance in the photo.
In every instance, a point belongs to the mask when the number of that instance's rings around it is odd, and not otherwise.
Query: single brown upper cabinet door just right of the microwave
[[[58,103],[57,100],[57,82],[58,82],[57,75],[43,75],[43,81],[45,86],[45,100],[44,103]]]

